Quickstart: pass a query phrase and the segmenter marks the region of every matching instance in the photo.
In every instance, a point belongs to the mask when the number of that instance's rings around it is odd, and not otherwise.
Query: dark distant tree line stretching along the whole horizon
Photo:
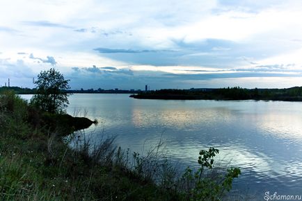
[[[1,91],[7,89],[15,91],[15,94],[36,94],[37,89],[21,87],[0,87]],[[285,89],[246,89],[241,87],[225,87],[218,89],[158,89],[154,91],[133,90],[67,90],[67,93],[131,93],[138,96],[191,96],[191,99],[218,99],[218,100],[302,100],[302,87]],[[194,98],[195,96],[195,98]],[[185,98],[185,97],[184,97]]]

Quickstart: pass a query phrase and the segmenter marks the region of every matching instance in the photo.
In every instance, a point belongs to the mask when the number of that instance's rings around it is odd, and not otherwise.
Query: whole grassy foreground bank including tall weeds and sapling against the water
[[[0,199],[218,200],[240,173],[206,171],[215,149],[200,152],[197,171],[179,174],[161,158],[160,144],[145,156],[117,148],[113,138],[94,146],[74,132],[89,123],[41,112],[11,92],[1,94]]]

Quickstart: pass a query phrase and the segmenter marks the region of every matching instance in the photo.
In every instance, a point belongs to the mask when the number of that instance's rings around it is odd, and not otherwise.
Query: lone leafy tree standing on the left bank
[[[34,83],[37,92],[31,98],[31,103],[40,110],[51,113],[65,112],[65,107],[69,104],[67,89],[70,80],[65,80],[63,74],[51,68],[48,71],[41,71],[38,80]]]

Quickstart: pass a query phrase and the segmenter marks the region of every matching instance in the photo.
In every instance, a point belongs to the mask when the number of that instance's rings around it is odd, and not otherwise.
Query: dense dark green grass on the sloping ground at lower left
[[[31,108],[11,92],[0,96],[0,200],[170,200],[173,197],[153,182],[113,164],[113,155],[101,163],[89,155],[85,146],[72,150],[63,142],[60,126],[54,128],[58,123],[51,116],[58,117]],[[70,122],[70,116],[63,117],[64,123]],[[109,150],[104,146],[115,149],[113,141],[104,141],[95,157],[100,158],[102,151]]]

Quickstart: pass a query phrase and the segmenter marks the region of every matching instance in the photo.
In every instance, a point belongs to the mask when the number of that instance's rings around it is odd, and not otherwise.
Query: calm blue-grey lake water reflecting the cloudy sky
[[[74,94],[69,114],[100,123],[97,141],[116,135],[136,152],[164,139],[168,156],[195,166],[198,151],[214,146],[219,159],[241,167],[235,189],[302,194],[302,103],[280,101],[138,100],[129,94]],[[79,110],[81,110],[79,112]]]

